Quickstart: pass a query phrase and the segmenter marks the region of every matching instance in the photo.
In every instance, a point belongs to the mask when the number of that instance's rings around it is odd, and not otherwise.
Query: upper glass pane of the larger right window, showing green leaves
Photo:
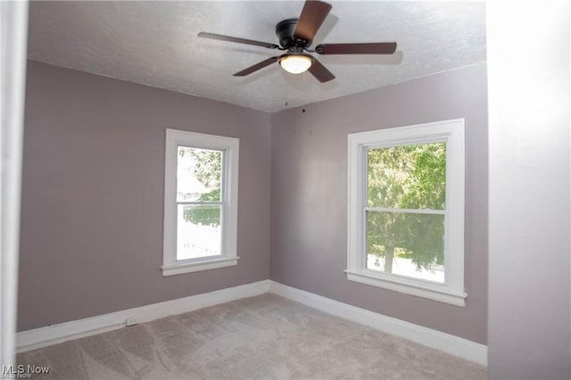
[[[444,210],[446,143],[367,150],[368,207]]]

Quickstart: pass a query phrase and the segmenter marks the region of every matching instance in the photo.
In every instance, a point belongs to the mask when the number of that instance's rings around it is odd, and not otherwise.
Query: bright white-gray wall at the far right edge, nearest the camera
[[[569,2],[486,6],[489,374],[569,379]]]

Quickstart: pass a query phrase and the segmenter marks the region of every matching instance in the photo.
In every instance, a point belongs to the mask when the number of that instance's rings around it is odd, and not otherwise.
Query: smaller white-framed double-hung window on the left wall
[[[236,138],[167,129],[162,275],[237,264]]]

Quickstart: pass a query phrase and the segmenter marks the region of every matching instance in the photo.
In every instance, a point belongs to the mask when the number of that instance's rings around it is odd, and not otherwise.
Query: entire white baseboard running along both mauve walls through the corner
[[[52,344],[115,330],[127,326],[128,319],[133,323],[145,323],[154,319],[203,309],[267,292],[281,295],[337,317],[345,318],[361,325],[371,326],[385,333],[397,335],[484,366],[487,365],[488,349],[484,344],[474,343],[458,336],[414,325],[401,319],[386,317],[373,311],[360,309],[347,303],[337,302],[271,280],[22,331],[16,335],[16,349],[18,352],[35,350]]]

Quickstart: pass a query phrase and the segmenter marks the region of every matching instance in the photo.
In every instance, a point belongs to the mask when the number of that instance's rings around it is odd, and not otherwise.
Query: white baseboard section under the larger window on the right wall
[[[269,281],[269,292],[281,295],[295,302],[349,319],[361,325],[371,326],[388,334],[400,336],[415,343],[450,353],[462,359],[487,366],[488,348],[484,344],[468,341],[455,335],[431,328],[418,326],[401,319],[387,317],[370,310],[360,309],[343,302],[337,302],[320,295]]]

